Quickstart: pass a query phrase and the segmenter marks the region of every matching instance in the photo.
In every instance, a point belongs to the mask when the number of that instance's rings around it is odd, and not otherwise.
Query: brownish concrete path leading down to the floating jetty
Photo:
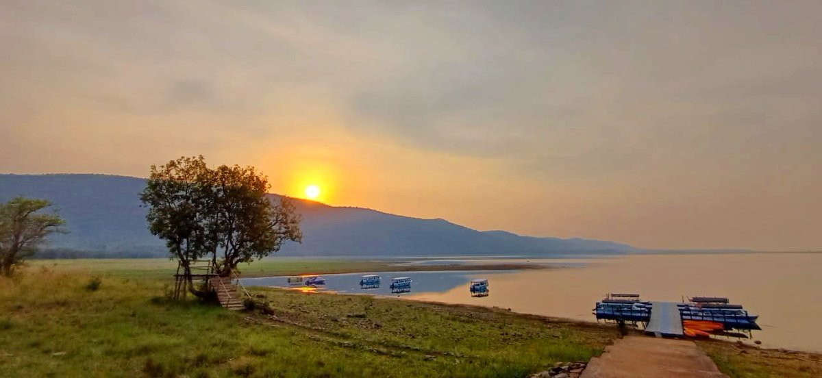
[[[628,336],[593,357],[581,378],[723,377],[693,341]]]

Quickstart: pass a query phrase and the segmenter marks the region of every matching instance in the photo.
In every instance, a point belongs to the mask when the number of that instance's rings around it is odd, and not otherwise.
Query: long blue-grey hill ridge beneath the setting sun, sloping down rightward
[[[148,231],[139,193],[145,179],[103,174],[0,174],[0,201],[15,196],[53,201],[68,233],[53,236],[51,256],[165,256]],[[277,196],[277,195],[271,195]],[[376,210],[293,200],[302,214],[302,244],[289,256],[452,256],[626,253],[635,248],[579,238],[524,237],[478,231],[445,219],[418,219]]]

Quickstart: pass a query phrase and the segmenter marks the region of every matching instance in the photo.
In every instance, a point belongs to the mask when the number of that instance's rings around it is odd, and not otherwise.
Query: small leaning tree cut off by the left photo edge
[[[66,222],[57,214],[39,213],[51,205],[23,197],[0,204],[0,274],[12,275],[49,234],[62,232],[60,226]]]

